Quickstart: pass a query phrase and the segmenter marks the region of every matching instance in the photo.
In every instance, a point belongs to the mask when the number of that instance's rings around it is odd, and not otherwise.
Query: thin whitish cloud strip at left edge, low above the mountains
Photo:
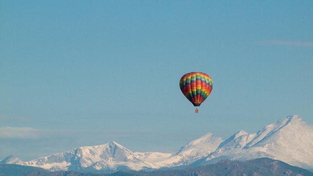
[[[0,138],[38,138],[44,132],[31,127],[0,127]]]

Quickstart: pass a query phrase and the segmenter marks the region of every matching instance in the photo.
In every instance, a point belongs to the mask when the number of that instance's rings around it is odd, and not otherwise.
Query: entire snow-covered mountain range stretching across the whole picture
[[[268,124],[256,133],[240,130],[226,140],[207,133],[188,142],[176,153],[132,152],[111,141],[30,161],[22,161],[10,155],[1,160],[0,164],[28,165],[50,171],[107,173],[117,170],[185,168],[216,163],[222,159],[244,161],[267,157],[313,169],[312,148],[313,126],[293,115]]]

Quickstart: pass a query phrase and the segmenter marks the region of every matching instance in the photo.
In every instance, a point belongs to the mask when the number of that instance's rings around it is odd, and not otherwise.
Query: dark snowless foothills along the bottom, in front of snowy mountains
[[[3,165],[0,165],[3,166]],[[17,166],[15,164],[5,164],[5,170],[13,173],[12,170],[17,167],[20,170],[22,167],[27,168],[30,166]],[[0,167],[3,168],[3,167]],[[31,168],[33,169],[33,168]],[[16,172],[17,173],[17,172]],[[7,175],[0,169],[0,175]],[[18,175],[18,174],[10,174]],[[55,175],[71,175],[71,176],[224,176],[224,175],[254,175],[254,176],[313,176],[313,172],[305,170],[300,167],[289,165],[285,162],[274,160],[270,158],[258,158],[247,161],[236,161],[223,159],[215,164],[208,164],[198,167],[187,167],[184,169],[170,169],[170,170],[155,170],[155,171],[117,171],[113,173],[81,173],[77,171],[48,171],[44,169],[34,169],[27,173],[22,173],[23,176],[55,176]]]

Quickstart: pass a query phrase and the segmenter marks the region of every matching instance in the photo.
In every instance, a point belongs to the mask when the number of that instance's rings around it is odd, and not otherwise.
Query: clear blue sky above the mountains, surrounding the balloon
[[[194,113],[190,71],[213,89]],[[312,0],[0,0],[0,160],[313,124]]]

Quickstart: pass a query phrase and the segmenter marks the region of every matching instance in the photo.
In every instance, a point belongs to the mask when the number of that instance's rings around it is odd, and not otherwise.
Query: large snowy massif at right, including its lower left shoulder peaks
[[[221,142],[215,151],[200,162],[204,164],[221,158],[248,160],[260,157],[312,169],[313,126],[293,115],[266,125],[257,133],[241,130]],[[199,161],[197,164],[200,164]]]

